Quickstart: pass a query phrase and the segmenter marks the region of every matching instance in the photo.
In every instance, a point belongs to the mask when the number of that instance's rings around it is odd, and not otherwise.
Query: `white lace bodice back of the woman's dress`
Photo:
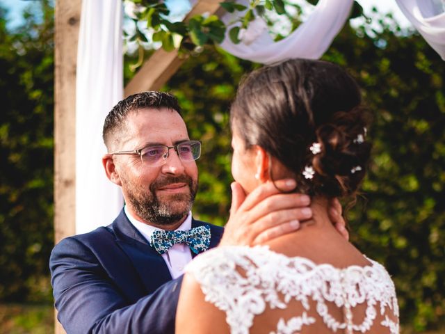
[[[369,261],[367,267],[337,269],[305,257],[287,257],[267,246],[230,246],[197,256],[186,272],[200,284],[206,301],[226,313],[232,334],[249,333],[254,317],[267,308],[284,310],[295,301],[300,311],[281,317],[270,334],[299,333],[317,321],[334,333],[366,333],[375,319],[386,328],[382,333],[399,333],[394,283],[382,265]],[[360,304],[366,311],[356,320],[353,310]],[[343,319],[332,314],[334,306],[342,310]]]

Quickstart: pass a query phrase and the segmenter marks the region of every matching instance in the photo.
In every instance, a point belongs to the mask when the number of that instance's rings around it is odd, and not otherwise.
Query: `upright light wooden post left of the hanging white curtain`
[[[82,0],[56,0],[54,52],[54,241],[75,234],[76,59]],[[55,333],[65,333],[55,321]]]

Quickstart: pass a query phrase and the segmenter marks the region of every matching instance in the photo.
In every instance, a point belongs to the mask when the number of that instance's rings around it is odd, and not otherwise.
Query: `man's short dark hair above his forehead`
[[[130,95],[118,102],[105,118],[102,138],[104,138],[104,143],[108,149],[111,134],[122,128],[128,113],[144,108],[168,108],[177,111],[181,115],[181,107],[178,104],[178,100],[170,93],[147,91]]]

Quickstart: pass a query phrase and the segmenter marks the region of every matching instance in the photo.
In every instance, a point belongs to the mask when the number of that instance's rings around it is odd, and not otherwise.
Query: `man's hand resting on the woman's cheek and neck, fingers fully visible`
[[[300,221],[312,218],[309,196],[282,193],[295,189],[295,180],[266,182],[247,197],[240,184],[233,182],[232,207],[220,245],[254,246],[300,228]],[[277,189],[278,188],[278,189]]]

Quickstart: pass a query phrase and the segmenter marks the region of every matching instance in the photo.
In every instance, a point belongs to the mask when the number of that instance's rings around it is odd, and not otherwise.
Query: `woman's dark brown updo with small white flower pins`
[[[230,122],[245,148],[259,145],[295,173],[296,191],[355,196],[371,144],[359,86],[339,65],[293,59],[251,72],[238,88]],[[312,152],[313,143],[321,152]],[[306,168],[312,177],[303,175]]]

